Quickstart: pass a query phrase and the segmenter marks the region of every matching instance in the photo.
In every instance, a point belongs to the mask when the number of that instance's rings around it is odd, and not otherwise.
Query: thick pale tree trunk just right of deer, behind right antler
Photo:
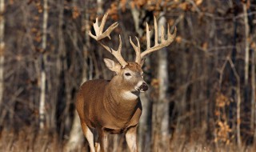
[[[166,29],[166,18],[160,14],[158,20],[158,39],[161,37],[161,26]],[[168,87],[168,60],[166,48],[158,50],[158,81],[159,81],[159,96],[158,102],[154,104],[154,150],[166,151],[169,148],[169,101],[167,99]]]

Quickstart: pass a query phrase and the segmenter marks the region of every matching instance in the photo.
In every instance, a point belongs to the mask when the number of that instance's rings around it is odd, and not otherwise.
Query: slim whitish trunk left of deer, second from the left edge
[[[41,82],[40,82],[40,104],[39,104],[39,126],[43,130],[46,127],[46,44],[47,44],[47,22],[48,22],[48,0],[43,1],[42,21],[42,54],[41,54]]]

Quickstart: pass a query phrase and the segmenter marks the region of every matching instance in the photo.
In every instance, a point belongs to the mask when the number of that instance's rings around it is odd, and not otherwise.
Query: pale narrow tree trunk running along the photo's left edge
[[[0,106],[3,101],[3,91],[4,91],[4,51],[5,51],[5,42],[4,42],[4,32],[5,32],[5,0],[0,1]]]

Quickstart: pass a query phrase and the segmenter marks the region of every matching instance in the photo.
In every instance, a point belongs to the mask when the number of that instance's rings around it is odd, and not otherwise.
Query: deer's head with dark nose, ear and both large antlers
[[[158,43],[158,24],[156,18],[154,17],[154,46],[150,46],[150,30],[149,26],[146,23],[146,50],[141,52],[140,43],[137,40],[137,46],[132,42],[130,37],[130,44],[133,46],[136,58],[134,62],[126,62],[124,58],[122,58],[121,50],[122,50],[122,39],[119,35],[119,46],[118,50],[113,50],[109,46],[106,46],[101,42],[103,38],[110,38],[110,33],[118,26],[118,22],[114,22],[110,27],[107,28],[105,32],[103,32],[103,27],[106,23],[106,18],[108,14],[105,14],[102,18],[102,23],[98,26],[98,18],[96,18],[96,22],[94,23],[95,35],[89,32],[91,38],[94,38],[99,42],[101,46],[103,46],[110,54],[113,54],[114,57],[118,60],[118,62],[114,62],[109,58],[104,58],[104,62],[108,69],[114,71],[116,76],[112,79],[116,81],[117,85],[122,85],[124,90],[130,90],[131,92],[144,92],[148,89],[146,82],[143,80],[143,71],[142,66],[145,60],[146,54],[150,54],[155,50],[160,50],[163,47],[169,46],[171,42],[174,41],[176,35],[176,28],[174,30],[174,34],[170,34],[170,28],[168,25],[167,35],[165,35],[165,30],[163,26],[161,27],[161,42]],[[165,38],[167,37],[167,38]],[[111,38],[110,38],[111,39]]]

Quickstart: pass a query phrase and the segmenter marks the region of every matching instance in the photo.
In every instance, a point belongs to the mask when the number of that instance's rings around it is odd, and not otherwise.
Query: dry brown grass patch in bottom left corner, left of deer
[[[0,136],[0,151],[62,151],[62,144],[57,134],[37,134],[34,130],[2,130]]]

